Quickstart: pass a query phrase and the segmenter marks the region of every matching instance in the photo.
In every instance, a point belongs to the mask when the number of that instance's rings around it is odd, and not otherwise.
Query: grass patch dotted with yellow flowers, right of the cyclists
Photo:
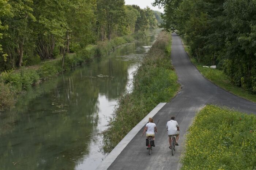
[[[182,170],[256,168],[255,115],[208,105],[188,131]]]

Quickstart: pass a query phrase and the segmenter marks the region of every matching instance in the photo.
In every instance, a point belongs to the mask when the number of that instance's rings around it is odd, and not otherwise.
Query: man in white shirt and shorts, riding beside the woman
[[[176,143],[175,143],[175,145],[177,145],[177,146],[178,146],[177,141],[178,141],[179,136],[180,136],[180,134],[179,134],[179,132],[178,132],[178,131],[180,130],[179,125],[178,125],[178,122],[175,121],[174,119],[175,119],[175,117],[172,116],[172,117],[171,117],[171,120],[170,120],[170,121],[167,121],[167,124],[166,124],[166,128],[167,128],[167,131],[168,131],[168,136],[169,136],[169,144],[170,144],[169,148],[170,148],[170,149],[172,148],[172,145],[171,145],[171,142],[172,142],[172,139],[171,139],[171,138],[172,138],[172,135],[175,135],[175,136],[176,136]]]

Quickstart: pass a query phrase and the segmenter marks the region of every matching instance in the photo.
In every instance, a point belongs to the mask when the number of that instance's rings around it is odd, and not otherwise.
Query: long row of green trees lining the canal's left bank
[[[150,8],[124,0],[0,0],[0,72],[38,64],[97,41],[155,28]],[[64,66],[64,63],[62,63]]]

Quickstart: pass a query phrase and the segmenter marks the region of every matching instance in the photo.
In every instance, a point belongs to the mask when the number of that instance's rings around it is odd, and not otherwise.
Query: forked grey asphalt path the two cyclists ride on
[[[172,34],[171,58],[182,89],[153,117],[155,123],[158,122],[158,133],[155,135],[155,147],[151,155],[148,155],[145,136],[142,137],[142,128],[109,166],[109,170],[180,169],[179,157],[184,146],[184,135],[195,113],[206,104],[228,106],[238,111],[256,113],[256,103],[234,96],[204,78],[189,60],[177,34]],[[180,145],[176,147],[175,156],[171,155],[171,150],[168,148],[166,131],[166,123],[172,115],[176,116],[181,129],[178,141]]]

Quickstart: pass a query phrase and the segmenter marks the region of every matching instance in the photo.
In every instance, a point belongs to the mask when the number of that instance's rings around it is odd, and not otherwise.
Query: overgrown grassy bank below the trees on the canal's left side
[[[98,42],[97,45],[77,49],[77,53],[66,55],[64,69],[61,67],[60,57],[41,62],[38,65],[22,67],[19,70],[2,72],[0,74],[0,112],[14,107],[16,94],[26,92],[32,86],[52,79],[61,72],[72,69],[72,67],[89,63],[94,57],[106,55],[115,47],[133,41],[135,36],[138,35],[117,37],[111,41]]]

